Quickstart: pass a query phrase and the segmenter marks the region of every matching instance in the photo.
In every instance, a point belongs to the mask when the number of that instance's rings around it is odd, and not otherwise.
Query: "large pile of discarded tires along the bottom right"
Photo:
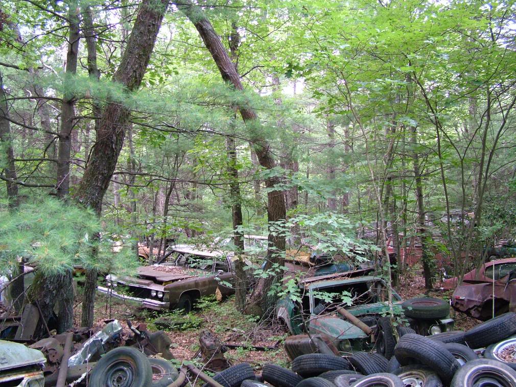
[[[291,369],[266,364],[257,376],[243,363],[213,379],[224,387],[516,386],[515,313],[505,313],[465,332],[432,336],[410,329],[398,332],[390,359],[367,352],[353,352],[346,358],[311,353],[294,359]]]

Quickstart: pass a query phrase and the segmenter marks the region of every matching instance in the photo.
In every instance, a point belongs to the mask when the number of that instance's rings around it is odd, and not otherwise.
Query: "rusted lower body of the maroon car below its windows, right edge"
[[[506,286],[507,278],[493,283],[461,285],[455,289],[451,306],[471,317],[488,320],[492,317],[493,294],[495,314],[516,310],[516,282]],[[493,286],[494,285],[494,286]]]

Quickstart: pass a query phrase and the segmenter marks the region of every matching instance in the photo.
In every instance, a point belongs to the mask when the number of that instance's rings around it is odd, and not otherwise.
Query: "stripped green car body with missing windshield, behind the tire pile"
[[[305,278],[299,282],[301,302],[290,298],[282,299],[276,307],[276,315],[285,321],[289,331],[300,335],[304,331],[310,335],[320,335],[331,341],[343,353],[371,349],[375,335],[366,334],[349,319],[336,313],[344,307],[352,316],[376,330],[379,317],[389,312],[388,287],[379,277],[364,275],[367,270],[354,270],[329,276]],[[330,300],[324,293],[330,294]],[[343,296],[351,304],[343,302]],[[393,308],[401,313],[401,297],[392,290]],[[453,329],[450,318],[433,320],[409,319],[410,325],[418,333],[428,335]]]

